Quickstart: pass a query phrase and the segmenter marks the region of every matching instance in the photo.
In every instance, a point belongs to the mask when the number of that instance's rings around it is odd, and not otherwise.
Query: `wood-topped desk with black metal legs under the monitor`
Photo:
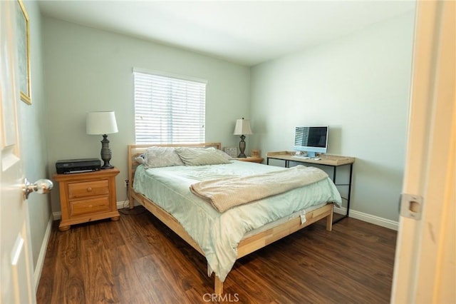
[[[347,201],[347,212],[345,216],[338,218],[338,220],[334,221],[334,223],[338,223],[339,221],[343,220],[343,218],[348,218],[348,213],[350,212],[351,178],[353,173],[353,163],[355,162],[354,157],[322,154],[321,156],[318,156],[320,159],[317,161],[313,158],[301,158],[293,156],[293,153],[289,151],[279,151],[266,153],[266,165],[269,165],[269,158],[285,161],[285,168],[289,168],[290,161],[296,161],[297,163],[315,163],[317,165],[332,167],[334,184],[336,186],[348,186],[347,197],[343,198]],[[341,166],[349,166],[348,183],[336,183],[336,169],[340,168]]]

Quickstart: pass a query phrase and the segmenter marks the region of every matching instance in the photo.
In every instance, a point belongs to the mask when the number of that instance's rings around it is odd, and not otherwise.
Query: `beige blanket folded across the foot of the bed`
[[[190,185],[190,191],[219,212],[244,203],[316,183],[328,174],[318,168],[295,166],[254,176],[217,178]]]

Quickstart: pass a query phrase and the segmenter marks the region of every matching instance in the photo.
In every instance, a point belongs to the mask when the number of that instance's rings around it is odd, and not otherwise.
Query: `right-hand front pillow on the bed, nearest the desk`
[[[219,165],[231,163],[226,156],[220,154],[216,148],[176,148],[180,159],[185,166]],[[222,152],[222,151],[221,151]]]

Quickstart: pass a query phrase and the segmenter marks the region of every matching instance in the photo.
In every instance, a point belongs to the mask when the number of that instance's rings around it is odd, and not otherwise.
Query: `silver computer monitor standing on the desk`
[[[294,150],[306,151],[308,157],[315,157],[315,153],[326,153],[328,128],[328,126],[297,126],[294,131]]]

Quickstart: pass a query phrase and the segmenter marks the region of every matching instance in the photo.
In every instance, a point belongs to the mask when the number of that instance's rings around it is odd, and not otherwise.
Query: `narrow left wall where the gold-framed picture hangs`
[[[41,52],[41,14],[35,1],[24,1],[30,19],[30,62],[32,105],[21,103],[20,145],[24,161],[24,176],[34,183],[40,178],[50,178],[46,134],[46,100],[43,90],[43,61]],[[33,267],[38,257],[44,258],[46,248],[41,248],[51,217],[51,197],[31,193],[28,196],[28,216],[31,230]],[[45,243],[46,245],[47,243]]]

